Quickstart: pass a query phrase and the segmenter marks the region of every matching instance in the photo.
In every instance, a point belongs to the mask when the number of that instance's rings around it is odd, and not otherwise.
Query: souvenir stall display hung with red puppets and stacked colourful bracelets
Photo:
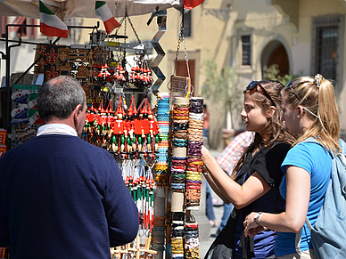
[[[194,211],[201,200],[203,99],[193,97],[189,76],[172,75],[169,92],[160,91],[167,11],[156,4],[152,12],[159,28],[152,38],[156,57],[150,60],[130,19],[129,10],[136,9],[120,5],[124,14],[112,33],[95,26],[88,45],[39,44],[35,73],[12,77],[12,147],[35,136],[42,124],[39,85],[60,75],[75,77],[86,92],[82,139],[117,160],[138,208],[136,239],[111,247],[112,258],[200,258]],[[130,30],[136,43],[127,43]],[[180,30],[177,53],[183,43],[189,75],[184,27]]]

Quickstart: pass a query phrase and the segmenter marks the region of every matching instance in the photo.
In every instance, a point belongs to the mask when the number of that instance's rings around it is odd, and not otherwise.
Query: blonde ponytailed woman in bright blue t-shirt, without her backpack
[[[325,200],[332,171],[328,150],[341,151],[334,87],[319,74],[298,77],[285,86],[281,100],[283,120],[292,134],[300,136],[281,166],[284,178],[280,193],[286,200],[285,211],[282,214],[249,214],[243,223],[245,235],[253,236],[264,228],[275,230],[278,231],[277,258],[317,258],[308,226],[304,223],[308,216],[314,225]],[[309,137],[320,144],[303,142]],[[301,255],[295,248],[295,233],[299,231]]]

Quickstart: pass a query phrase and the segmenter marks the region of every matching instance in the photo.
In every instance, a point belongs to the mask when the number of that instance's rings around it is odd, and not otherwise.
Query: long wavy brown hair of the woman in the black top
[[[235,165],[235,169],[231,174],[231,178],[234,180],[240,168],[243,166],[243,161],[249,152],[257,152],[262,147],[272,147],[276,142],[292,144],[295,140],[292,134],[286,130],[284,123],[281,121],[282,109],[280,93],[284,89],[284,85],[274,80],[259,81],[259,83],[267,91],[270,98],[275,102],[276,110],[263,132],[261,134],[256,133],[251,145],[244,150],[242,158],[238,160],[237,164]],[[260,88],[257,88],[257,90],[260,91]],[[272,106],[272,102],[268,99],[268,97],[259,91],[254,91],[252,93],[251,90],[245,90],[243,93],[251,93],[252,100],[260,106],[263,114],[267,114]]]

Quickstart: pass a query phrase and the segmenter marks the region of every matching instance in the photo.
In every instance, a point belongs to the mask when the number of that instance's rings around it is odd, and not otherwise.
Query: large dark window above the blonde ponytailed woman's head
[[[313,74],[336,80],[341,61],[341,18],[314,20],[313,26]]]

